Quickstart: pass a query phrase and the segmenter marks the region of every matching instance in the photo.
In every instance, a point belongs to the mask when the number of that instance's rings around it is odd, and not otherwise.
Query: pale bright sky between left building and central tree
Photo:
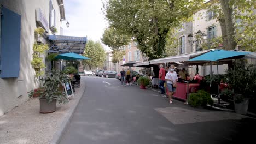
[[[64,0],[66,20],[62,22],[63,35],[86,37],[100,41],[107,21],[102,13],[101,0]]]

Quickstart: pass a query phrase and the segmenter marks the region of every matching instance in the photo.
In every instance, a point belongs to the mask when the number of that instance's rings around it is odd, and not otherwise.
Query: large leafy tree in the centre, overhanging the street
[[[164,55],[166,36],[171,27],[189,19],[203,0],[109,0],[103,3],[110,26],[133,35],[138,48],[150,59]]]

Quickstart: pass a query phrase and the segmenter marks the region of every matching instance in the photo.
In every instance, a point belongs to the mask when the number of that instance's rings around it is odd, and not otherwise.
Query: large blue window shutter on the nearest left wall
[[[19,77],[21,16],[2,7],[0,77]]]

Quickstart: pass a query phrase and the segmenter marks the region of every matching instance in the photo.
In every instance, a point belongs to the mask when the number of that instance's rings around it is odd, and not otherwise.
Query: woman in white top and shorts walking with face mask
[[[178,80],[177,73],[175,73],[174,69],[171,68],[170,71],[165,76],[165,81],[167,82],[168,87],[168,95],[170,99],[170,104],[172,104],[172,95],[175,93],[176,88],[173,87],[173,83],[176,83]]]

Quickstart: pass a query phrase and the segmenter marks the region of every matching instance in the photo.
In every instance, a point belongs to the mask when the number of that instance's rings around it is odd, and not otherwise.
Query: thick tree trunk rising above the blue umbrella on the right
[[[233,13],[233,9],[229,6],[229,1],[230,0],[220,0],[220,4],[222,6],[222,11],[223,11],[223,15],[224,15],[224,22],[225,22],[225,28],[222,28],[222,30],[224,31],[224,35],[226,35],[226,38],[223,39],[223,45],[225,46],[226,50],[233,50],[236,48],[236,41],[234,39],[234,35],[235,35],[235,25],[234,25],[234,20],[232,19],[232,13]],[[223,26],[223,25],[220,25]],[[224,30],[226,29],[226,31]],[[222,32],[223,34],[223,32]],[[224,40],[226,42],[224,42]]]

